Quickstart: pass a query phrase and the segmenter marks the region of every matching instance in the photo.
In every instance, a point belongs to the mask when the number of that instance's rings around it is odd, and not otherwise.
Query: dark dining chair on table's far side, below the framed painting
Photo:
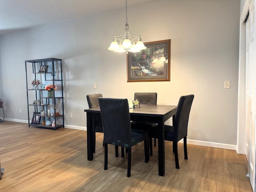
[[[156,105],[157,93],[134,93],[134,101],[137,99],[142,105]],[[132,124],[132,129],[143,129],[143,130],[152,129],[154,128],[154,126],[156,126],[156,123],[136,122],[136,121],[133,121],[131,124]],[[151,135],[149,135],[149,137],[150,137],[150,141],[149,141],[150,155],[153,155],[152,137]],[[154,138],[154,146],[156,146],[156,138]]]

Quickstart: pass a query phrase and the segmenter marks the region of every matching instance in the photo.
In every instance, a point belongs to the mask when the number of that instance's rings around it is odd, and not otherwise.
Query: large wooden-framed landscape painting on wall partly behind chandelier
[[[127,82],[170,81],[171,40],[144,45],[146,49],[127,54]]]

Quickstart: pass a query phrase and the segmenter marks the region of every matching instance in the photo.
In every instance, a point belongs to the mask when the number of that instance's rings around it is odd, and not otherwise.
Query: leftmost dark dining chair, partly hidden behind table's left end
[[[90,95],[86,95],[87,98],[87,102],[88,102],[88,106],[89,108],[93,108],[93,107],[99,107],[99,102],[98,102],[98,98],[102,97],[102,94],[90,94]],[[93,133],[93,152],[95,153],[95,148],[96,148],[96,136],[95,133],[103,133],[103,127],[102,127],[102,121],[101,118],[94,118],[92,121],[92,133]],[[104,140],[103,140],[103,144],[104,146]],[[118,157],[118,148],[116,148],[116,157]]]

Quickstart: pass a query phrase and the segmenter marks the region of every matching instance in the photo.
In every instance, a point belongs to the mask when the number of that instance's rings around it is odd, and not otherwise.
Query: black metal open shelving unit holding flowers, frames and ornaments
[[[64,128],[62,60],[57,58],[26,60],[25,67],[28,126],[52,130]],[[33,88],[33,80],[39,80],[40,86]],[[44,89],[48,84],[57,88],[53,90],[53,97],[48,97],[48,90]],[[45,114],[41,114],[41,110],[44,110]],[[43,125],[42,120],[55,124]]]

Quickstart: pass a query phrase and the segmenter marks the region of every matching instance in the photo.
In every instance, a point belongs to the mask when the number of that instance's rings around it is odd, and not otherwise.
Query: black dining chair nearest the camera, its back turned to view
[[[130,113],[127,99],[98,98],[104,131],[105,158],[104,170],[108,169],[108,144],[128,148],[127,177],[131,176],[132,146],[144,141],[145,162],[149,161],[148,132],[131,129]]]

